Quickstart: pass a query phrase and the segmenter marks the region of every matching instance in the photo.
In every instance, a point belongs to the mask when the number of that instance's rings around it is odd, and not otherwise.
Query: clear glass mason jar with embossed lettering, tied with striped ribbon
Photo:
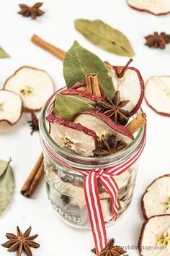
[[[60,93],[61,90],[58,90],[56,93]],[[44,154],[48,198],[53,205],[55,212],[58,213],[58,216],[61,217],[64,222],[76,228],[89,229],[89,215],[84,197],[84,176],[79,172],[66,168],[54,161],[53,158],[50,157],[48,150],[50,150],[53,155],[68,163],[69,166],[78,168],[80,171],[89,171],[92,168],[106,169],[110,166],[122,163],[135,155],[146,136],[144,132],[145,129],[144,127],[140,128],[135,134],[135,140],[133,140],[133,142],[126,148],[113,155],[102,157],[84,157],[76,155],[75,153],[71,153],[68,150],[61,148],[55,143],[53,138],[50,137],[49,123],[46,120],[46,116],[52,111],[54,101],[55,94],[48,100],[40,114],[40,140],[42,142],[42,150]],[[138,111],[138,114],[140,114],[141,111],[142,109]],[[45,148],[44,142],[48,150]],[[120,174],[120,176],[114,176],[115,182],[117,182],[119,187],[118,200],[120,209],[117,219],[122,216],[122,213],[125,213],[125,210],[130,205],[133,197],[137,171],[138,160],[133,163],[133,166],[130,166],[127,171]],[[113,213],[111,208],[112,201],[104,187],[99,183],[98,190],[104,223],[108,225],[113,223]]]

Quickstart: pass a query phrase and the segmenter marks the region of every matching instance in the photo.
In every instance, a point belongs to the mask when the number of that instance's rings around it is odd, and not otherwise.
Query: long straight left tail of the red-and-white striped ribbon
[[[104,218],[102,207],[99,200],[99,192],[97,188],[98,174],[90,171],[84,178],[84,195],[86,199],[86,206],[89,212],[89,220],[91,223],[91,230],[94,236],[94,243],[97,254],[107,246],[107,234],[104,226]]]

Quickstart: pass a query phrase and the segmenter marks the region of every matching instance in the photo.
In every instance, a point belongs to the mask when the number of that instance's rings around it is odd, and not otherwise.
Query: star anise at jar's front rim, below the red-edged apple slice
[[[125,148],[127,144],[122,140],[118,140],[116,136],[112,135],[108,139],[104,138],[104,135],[99,139],[99,146],[93,151],[94,155],[102,156],[115,153],[122,148]]]

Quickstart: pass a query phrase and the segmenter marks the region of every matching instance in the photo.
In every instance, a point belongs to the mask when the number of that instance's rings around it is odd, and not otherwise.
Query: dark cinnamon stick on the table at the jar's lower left
[[[38,158],[37,162],[35,163],[32,172],[27,177],[24,186],[21,189],[21,194],[24,197],[32,197],[35,189],[37,188],[42,176],[44,174],[44,163],[43,163],[43,154],[41,153],[40,158]]]

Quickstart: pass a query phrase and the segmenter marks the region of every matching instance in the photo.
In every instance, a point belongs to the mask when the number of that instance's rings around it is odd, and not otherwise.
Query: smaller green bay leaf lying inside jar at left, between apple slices
[[[94,110],[94,107],[78,97],[57,94],[55,109],[63,119],[73,121],[74,117],[81,111]]]

